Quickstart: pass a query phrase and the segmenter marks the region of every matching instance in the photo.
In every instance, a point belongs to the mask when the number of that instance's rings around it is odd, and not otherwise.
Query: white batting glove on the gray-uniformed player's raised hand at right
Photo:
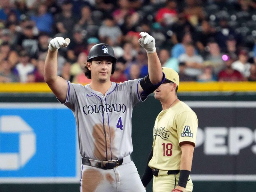
[[[156,51],[156,43],[155,38],[151,35],[148,35],[148,33],[141,32],[140,36],[142,38],[139,39],[139,44],[141,47],[146,49],[147,53],[153,53]]]

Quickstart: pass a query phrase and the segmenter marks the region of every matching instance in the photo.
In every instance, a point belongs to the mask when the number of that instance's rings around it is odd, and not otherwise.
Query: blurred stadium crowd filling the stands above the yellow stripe
[[[148,74],[141,31],[156,40],[163,67],[180,81],[256,81],[255,0],[1,0],[0,82],[44,82],[49,41],[71,39],[58,75],[90,82],[83,67],[98,43],[118,58],[111,81]]]

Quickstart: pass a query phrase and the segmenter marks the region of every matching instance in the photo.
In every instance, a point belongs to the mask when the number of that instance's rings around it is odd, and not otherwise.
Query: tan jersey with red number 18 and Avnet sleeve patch
[[[159,170],[180,170],[180,142],[196,143],[198,120],[182,101],[161,111],[153,131],[153,157],[148,166]]]

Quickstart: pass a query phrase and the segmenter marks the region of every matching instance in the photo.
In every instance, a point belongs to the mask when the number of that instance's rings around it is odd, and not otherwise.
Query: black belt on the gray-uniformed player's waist
[[[132,156],[128,157],[128,161],[132,161]],[[117,160],[108,160],[108,161],[98,161],[98,160],[92,160],[89,158],[82,157],[82,164],[89,165],[93,167],[98,167],[101,169],[114,169],[120,165],[123,164],[124,158],[117,159]],[[128,163],[127,160],[125,163]]]

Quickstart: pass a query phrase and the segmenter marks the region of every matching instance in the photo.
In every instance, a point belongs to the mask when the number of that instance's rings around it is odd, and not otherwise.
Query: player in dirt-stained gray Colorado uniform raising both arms
[[[91,83],[73,84],[57,76],[58,49],[70,40],[50,41],[44,79],[57,99],[70,108],[76,119],[81,165],[81,192],[145,192],[132,162],[132,108],[162,82],[164,74],[156,54],[155,39],[141,32],[139,44],[148,55],[149,75],[142,79],[114,83],[114,51],[108,44],[96,44],[89,51],[85,76]]]

